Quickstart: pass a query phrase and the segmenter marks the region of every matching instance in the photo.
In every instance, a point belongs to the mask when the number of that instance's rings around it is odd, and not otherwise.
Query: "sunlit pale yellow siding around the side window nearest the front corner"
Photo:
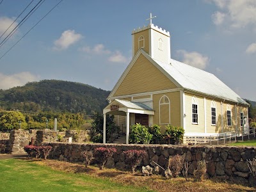
[[[186,111],[186,132],[205,132],[204,130],[204,97],[196,96],[198,100],[198,124],[192,124],[192,97],[185,93],[185,111]]]

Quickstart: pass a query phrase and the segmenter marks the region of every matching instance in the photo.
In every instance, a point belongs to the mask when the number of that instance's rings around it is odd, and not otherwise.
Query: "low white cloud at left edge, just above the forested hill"
[[[28,82],[37,81],[39,78],[30,72],[20,72],[18,74],[4,75],[0,73],[0,89],[6,90],[13,86],[22,86]]]

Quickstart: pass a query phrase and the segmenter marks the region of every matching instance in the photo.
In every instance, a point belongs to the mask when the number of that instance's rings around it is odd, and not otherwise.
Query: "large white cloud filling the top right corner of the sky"
[[[256,24],[255,0],[212,0],[212,2],[221,10],[212,15],[214,24],[224,24],[225,22],[232,28]]]

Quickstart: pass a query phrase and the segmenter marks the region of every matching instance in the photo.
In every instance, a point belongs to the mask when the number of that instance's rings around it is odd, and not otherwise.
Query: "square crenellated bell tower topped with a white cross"
[[[170,33],[152,24],[155,17],[150,13],[150,24],[132,31],[132,57],[143,49],[153,59],[170,63]]]

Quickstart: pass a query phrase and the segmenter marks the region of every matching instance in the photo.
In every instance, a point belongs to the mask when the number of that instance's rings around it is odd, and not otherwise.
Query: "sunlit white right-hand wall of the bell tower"
[[[168,63],[168,52],[170,51],[170,45],[168,44],[168,40],[170,37],[163,35],[162,33],[159,33],[158,31],[152,30],[153,33],[153,42],[154,42],[154,56],[156,60],[162,61],[164,63]],[[158,40],[161,38],[163,40],[163,50],[158,49]]]

